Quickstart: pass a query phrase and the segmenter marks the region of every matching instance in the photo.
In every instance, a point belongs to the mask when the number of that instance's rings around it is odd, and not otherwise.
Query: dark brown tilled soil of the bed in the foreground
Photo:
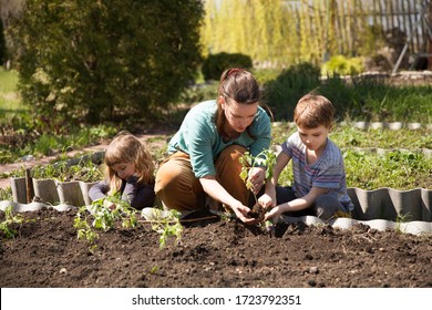
[[[6,287],[432,287],[432,236],[364,225],[277,225],[269,235],[233,219],[184,224],[179,244],[160,249],[148,223],[76,238],[75,211],[23,214],[19,236],[0,231]],[[0,220],[4,214],[0,211]]]

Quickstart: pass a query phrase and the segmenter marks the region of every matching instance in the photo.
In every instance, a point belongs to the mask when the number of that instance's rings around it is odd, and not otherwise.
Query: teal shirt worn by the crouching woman
[[[254,122],[250,124],[249,136],[247,131],[238,138],[225,143],[217,132],[215,117],[217,103],[215,100],[202,102],[186,114],[181,128],[168,144],[168,153],[182,151],[189,155],[193,172],[197,178],[215,176],[215,159],[229,145],[245,146],[253,156],[263,149],[268,149],[271,141],[271,123],[266,111],[258,106]]]

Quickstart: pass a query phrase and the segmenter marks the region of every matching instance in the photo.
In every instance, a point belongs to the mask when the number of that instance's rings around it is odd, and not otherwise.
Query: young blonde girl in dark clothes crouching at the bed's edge
[[[109,145],[104,163],[106,178],[90,188],[92,200],[120,193],[135,209],[153,206],[154,163],[142,141],[121,132]]]

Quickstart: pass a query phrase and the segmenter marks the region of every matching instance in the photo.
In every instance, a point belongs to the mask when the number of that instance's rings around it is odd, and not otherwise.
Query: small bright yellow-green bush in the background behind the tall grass
[[[361,58],[346,58],[343,55],[335,55],[321,66],[321,74],[326,76],[356,75],[363,71],[364,65]]]

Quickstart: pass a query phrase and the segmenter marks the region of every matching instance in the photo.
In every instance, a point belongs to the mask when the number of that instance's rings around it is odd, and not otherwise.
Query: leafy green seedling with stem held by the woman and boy
[[[265,209],[258,204],[258,198],[256,194],[254,193],[254,185],[248,179],[249,173],[255,167],[266,167],[266,177],[265,179],[269,179],[272,176],[272,169],[276,164],[276,154],[270,149],[264,149],[260,152],[257,156],[253,156],[249,152],[246,152],[240,157],[240,164],[241,164],[241,172],[240,172],[240,178],[246,184],[246,188],[249,189],[255,198],[255,205],[253,209],[250,210],[249,215],[259,218],[260,220],[264,219]],[[267,220],[265,223],[266,229],[270,231],[274,227],[274,224],[270,220]]]

